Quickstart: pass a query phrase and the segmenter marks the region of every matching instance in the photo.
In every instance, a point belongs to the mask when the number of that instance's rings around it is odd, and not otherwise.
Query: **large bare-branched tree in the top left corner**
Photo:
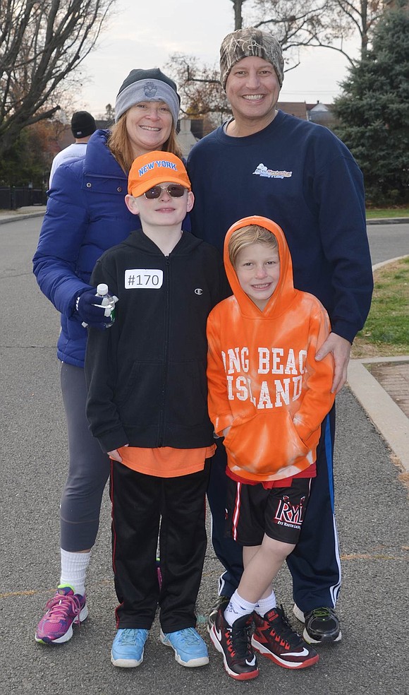
[[[114,2],[0,0],[0,156],[25,126],[59,110]]]

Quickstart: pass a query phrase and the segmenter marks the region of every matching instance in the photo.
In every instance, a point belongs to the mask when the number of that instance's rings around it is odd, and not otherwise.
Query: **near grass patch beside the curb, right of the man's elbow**
[[[409,258],[374,272],[374,295],[364,328],[351,357],[409,355]]]

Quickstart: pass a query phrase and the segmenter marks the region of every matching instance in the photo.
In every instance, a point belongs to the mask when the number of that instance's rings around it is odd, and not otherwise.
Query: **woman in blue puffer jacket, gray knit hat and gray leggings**
[[[109,457],[90,434],[85,416],[87,331],[82,323],[104,328],[109,321],[94,306],[102,299],[94,296],[90,275],[99,256],[135,229],[135,216],[124,202],[133,160],[152,150],[181,154],[179,104],[176,84],[158,68],[130,71],[116,97],[116,124],[95,131],[85,158],[63,163],[49,191],[33,263],[39,287],[61,312],[57,357],[69,468],[61,499],[61,576],[37,625],[38,642],[68,641],[73,624],[87,617],[85,577],[109,476]]]

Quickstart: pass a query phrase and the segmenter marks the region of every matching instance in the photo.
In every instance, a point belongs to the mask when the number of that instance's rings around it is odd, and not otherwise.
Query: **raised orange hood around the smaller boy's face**
[[[264,229],[271,232],[271,234],[274,234],[278,244],[280,259],[279,283],[269,298],[269,301],[267,302],[267,305],[264,307],[263,311],[257,307],[257,305],[252,301],[252,299],[250,299],[250,297],[248,297],[248,295],[246,295],[245,291],[240,286],[236,270],[233,268],[228,254],[228,242],[234,232],[237,232],[248,225],[258,225],[260,227],[264,227]],[[293,263],[291,261],[291,254],[290,250],[288,249],[284,232],[279,225],[276,225],[276,222],[273,222],[268,218],[264,218],[261,215],[250,215],[249,217],[242,218],[231,225],[226,234],[226,238],[224,239],[224,266],[226,268],[228,282],[230,283],[233,294],[236,296],[240,306],[240,311],[243,316],[246,316],[246,318],[275,318],[284,314],[288,310],[288,307],[290,307],[290,305],[293,303],[296,296],[293,281]]]

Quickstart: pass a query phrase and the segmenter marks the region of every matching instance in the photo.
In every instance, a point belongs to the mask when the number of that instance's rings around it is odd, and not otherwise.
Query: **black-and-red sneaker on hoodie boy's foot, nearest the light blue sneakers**
[[[235,680],[257,678],[257,657],[252,651],[252,614],[243,615],[230,626],[219,608],[209,634],[217,651],[223,654],[224,668]]]

